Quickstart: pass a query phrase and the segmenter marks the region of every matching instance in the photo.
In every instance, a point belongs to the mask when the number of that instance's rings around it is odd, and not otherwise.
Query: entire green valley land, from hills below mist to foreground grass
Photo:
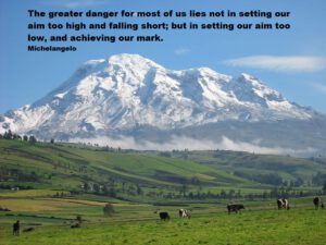
[[[326,213],[312,204],[325,194],[316,181],[325,177],[324,158],[0,139],[0,163],[3,245],[298,244],[299,237],[322,245],[326,234]],[[277,210],[279,196],[290,210]],[[230,203],[246,209],[227,215]],[[191,219],[180,219],[179,208]],[[161,221],[161,211],[171,219]],[[12,235],[16,220],[20,236]],[[71,229],[76,222],[80,228]]]

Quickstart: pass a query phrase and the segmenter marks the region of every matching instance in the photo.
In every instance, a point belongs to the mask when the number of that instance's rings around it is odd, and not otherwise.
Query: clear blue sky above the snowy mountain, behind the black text
[[[33,21],[27,14],[27,10],[30,9],[39,11],[121,11],[125,9],[135,12],[156,10],[289,11],[291,12],[290,17],[279,20],[279,22],[289,23],[291,29],[162,30],[159,34],[164,36],[163,42],[79,44],[76,52],[28,52],[26,26],[28,22]],[[103,21],[110,22],[110,20]],[[112,20],[112,22],[118,21],[121,20]],[[154,19],[153,21],[161,23],[163,20]],[[191,21],[199,23],[229,22],[225,19]],[[274,23],[275,21],[278,20],[234,19],[236,23]],[[325,0],[1,1],[0,113],[41,98],[67,79],[85,61],[106,59],[116,53],[139,53],[173,70],[209,66],[220,73],[234,76],[242,72],[249,73],[279,90],[289,100],[326,112],[325,23]],[[33,30],[33,34],[37,33],[37,30]],[[139,32],[137,35],[141,35],[141,33]],[[126,32],[106,30],[106,34],[124,35]],[[58,44],[53,46],[58,46]]]

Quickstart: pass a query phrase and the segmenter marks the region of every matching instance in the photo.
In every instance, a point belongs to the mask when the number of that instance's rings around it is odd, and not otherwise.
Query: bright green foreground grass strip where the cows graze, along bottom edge
[[[225,211],[196,213],[170,221],[110,220],[84,222],[79,229],[68,224],[39,225],[21,236],[11,234],[9,224],[1,224],[0,244],[52,245],[123,245],[123,244],[293,244],[324,245],[326,242],[326,212],[312,207],[291,210],[249,209],[240,215]],[[23,222],[23,229],[30,226]]]

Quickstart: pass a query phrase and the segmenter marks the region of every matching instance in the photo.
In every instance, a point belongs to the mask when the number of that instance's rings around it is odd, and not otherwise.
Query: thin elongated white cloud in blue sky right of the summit
[[[226,60],[224,63],[280,72],[316,72],[326,69],[326,59],[319,57],[253,56]]]

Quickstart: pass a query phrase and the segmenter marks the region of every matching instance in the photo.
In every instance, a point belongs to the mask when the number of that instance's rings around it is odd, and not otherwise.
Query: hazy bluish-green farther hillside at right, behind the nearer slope
[[[326,158],[321,157],[306,159],[228,150],[173,151],[172,157],[263,184],[302,187],[322,186],[326,182]]]

